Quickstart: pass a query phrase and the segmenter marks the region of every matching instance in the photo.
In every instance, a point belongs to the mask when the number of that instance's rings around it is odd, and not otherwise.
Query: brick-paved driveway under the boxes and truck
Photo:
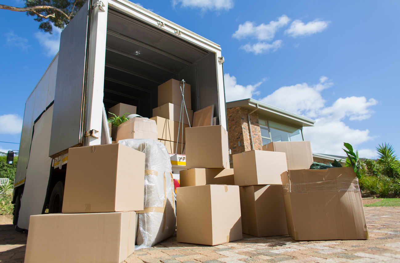
[[[288,236],[253,237],[215,247],[178,243],[176,235],[136,250],[126,263],[398,263],[400,207],[364,207],[370,239],[294,241]],[[24,261],[26,235],[0,222],[0,262]]]

